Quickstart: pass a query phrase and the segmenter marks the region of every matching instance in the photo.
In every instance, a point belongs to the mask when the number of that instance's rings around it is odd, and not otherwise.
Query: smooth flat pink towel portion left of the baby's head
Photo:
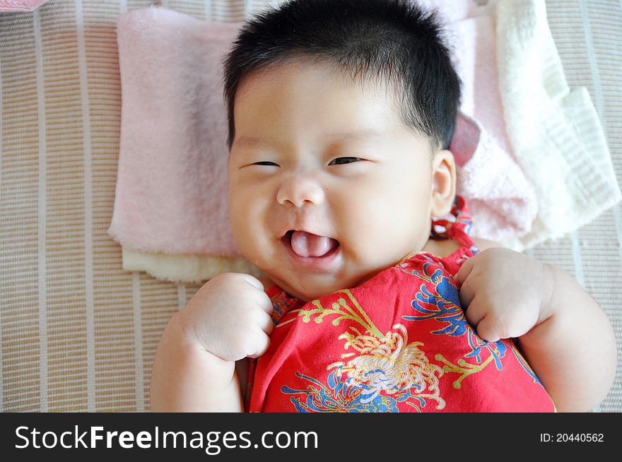
[[[117,20],[122,111],[108,232],[125,247],[237,256],[221,59],[239,25],[164,8]]]

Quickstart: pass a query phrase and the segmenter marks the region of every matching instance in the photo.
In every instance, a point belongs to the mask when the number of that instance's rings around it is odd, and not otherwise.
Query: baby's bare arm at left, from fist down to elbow
[[[160,338],[151,410],[242,412],[242,368],[246,357],[262,355],[268,347],[271,311],[262,283],[252,276],[227,273],[203,285]]]

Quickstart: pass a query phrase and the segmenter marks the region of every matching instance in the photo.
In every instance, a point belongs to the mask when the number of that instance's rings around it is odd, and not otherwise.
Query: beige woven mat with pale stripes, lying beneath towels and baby
[[[160,1],[235,22],[263,1]],[[115,24],[150,1],[48,0],[0,14],[0,409],[148,409],[163,328],[198,290],[122,271],[106,230],[119,152]],[[622,7],[546,1],[568,85],[587,88],[622,181]],[[622,353],[622,208],[527,254],[577,278]],[[622,374],[597,408],[622,411]]]

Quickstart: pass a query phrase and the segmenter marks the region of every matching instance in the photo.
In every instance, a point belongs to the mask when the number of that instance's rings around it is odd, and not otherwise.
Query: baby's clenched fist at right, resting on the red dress
[[[484,340],[520,337],[550,316],[550,268],[517,251],[486,249],[454,279],[467,320]]]

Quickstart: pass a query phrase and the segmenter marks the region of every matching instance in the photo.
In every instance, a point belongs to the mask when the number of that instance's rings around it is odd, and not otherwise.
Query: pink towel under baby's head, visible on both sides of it
[[[452,141],[459,191],[473,204],[475,235],[518,237],[531,229],[535,196],[505,141],[490,18],[464,19],[477,11],[464,4],[450,16],[462,17],[451,25],[464,81],[464,114]],[[228,224],[221,82],[221,59],[239,26],[164,8],[119,16],[122,126],[108,232],[123,247],[240,256]]]

